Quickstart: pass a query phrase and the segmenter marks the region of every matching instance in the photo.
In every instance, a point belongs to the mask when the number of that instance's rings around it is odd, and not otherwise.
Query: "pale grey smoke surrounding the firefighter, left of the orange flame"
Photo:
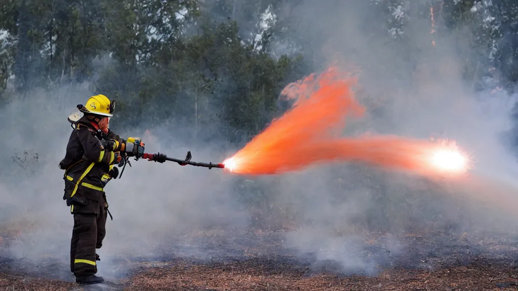
[[[68,94],[61,103],[59,94]],[[2,254],[30,271],[34,266],[45,266],[46,274],[65,280],[73,280],[68,266],[74,223],[62,199],[63,171],[58,164],[73,130],[67,117],[92,94],[88,85],[66,86],[52,93],[34,92],[30,99],[14,101],[0,112],[2,134],[9,137],[0,142],[4,149],[0,234],[17,237],[9,243],[7,254]],[[182,138],[191,138],[192,134],[166,128],[169,122],[111,129],[124,138],[141,137],[150,153],[183,158],[190,150],[193,161],[203,162],[221,162],[229,154],[222,150],[226,147],[224,140],[183,143]],[[126,166],[122,176],[105,188],[113,221],[108,217],[106,239],[103,248],[97,250],[104,275],[121,275],[131,269],[121,261],[160,257],[164,250],[174,256],[203,255],[207,252],[202,245],[205,240],[186,235],[207,227],[240,228],[249,223],[250,217],[234,199],[233,177],[222,170],[145,159],[130,161],[132,167]],[[184,244],[192,249],[190,253],[180,248]]]

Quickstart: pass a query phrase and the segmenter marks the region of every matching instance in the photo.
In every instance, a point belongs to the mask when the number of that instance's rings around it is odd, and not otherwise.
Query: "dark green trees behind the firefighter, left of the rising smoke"
[[[221,7],[195,0],[5,0],[0,29],[16,42],[0,43],[0,88],[7,88],[11,66],[18,95],[92,82],[92,94],[119,101],[114,126],[175,117],[197,128],[219,122],[226,137],[248,138],[276,114],[280,90],[293,81],[287,77],[300,76],[300,59],[272,58],[263,46],[268,37],[250,41],[236,21],[212,17]],[[249,11],[240,15],[250,18],[261,7],[240,5]]]

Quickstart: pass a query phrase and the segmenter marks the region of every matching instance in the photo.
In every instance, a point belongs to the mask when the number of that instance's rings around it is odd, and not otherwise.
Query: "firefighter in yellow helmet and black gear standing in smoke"
[[[104,282],[95,275],[100,260],[96,249],[103,245],[109,214],[104,187],[119,174],[114,166],[122,165],[125,156],[134,156],[143,146],[139,138],[124,140],[109,129],[114,107],[113,100],[96,95],[68,117],[74,130],[59,166],[65,170],[63,200],[74,215],[70,271],[79,284]]]

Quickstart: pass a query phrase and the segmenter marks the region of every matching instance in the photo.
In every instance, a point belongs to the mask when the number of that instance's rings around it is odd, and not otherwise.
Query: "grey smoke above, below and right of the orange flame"
[[[393,26],[404,23],[401,34],[383,26],[377,10],[383,2],[305,1],[291,7],[294,34],[306,43],[305,56],[315,56],[315,70],[337,62],[343,69],[361,69],[357,96],[369,112],[348,134],[454,139],[475,161],[473,176],[462,183],[423,181],[357,165],[315,167],[268,179],[270,185],[269,180],[277,180],[270,203],[297,213],[297,229],[286,241],[299,254],[333,259],[343,270],[372,270],[380,257],[365,256],[368,246],[362,242],[376,232],[384,237],[387,232],[435,229],[501,238],[515,229],[509,205],[515,201],[511,177],[518,167],[500,140],[511,128],[515,96],[492,95],[492,88],[473,92],[471,80],[463,77],[466,55],[456,50],[463,40],[430,34],[426,12],[432,4],[392,7]],[[436,9],[436,28],[442,24],[439,13]],[[393,37],[399,40],[391,41]],[[378,255],[410,252],[400,238],[387,237],[391,243],[381,243]],[[474,239],[469,244],[475,245]]]

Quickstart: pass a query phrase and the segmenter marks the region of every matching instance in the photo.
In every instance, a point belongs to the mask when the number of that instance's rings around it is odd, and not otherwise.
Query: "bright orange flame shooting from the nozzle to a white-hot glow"
[[[332,67],[282,91],[296,99],[291,110],[223,164],[236,174],[278,174],[314,164],[356,161],[424,176],[451,176],[468,170],[469,158],[454,142],[389,135],[338,137],[347,118],[365,108],[354,98],[356,79]]]

